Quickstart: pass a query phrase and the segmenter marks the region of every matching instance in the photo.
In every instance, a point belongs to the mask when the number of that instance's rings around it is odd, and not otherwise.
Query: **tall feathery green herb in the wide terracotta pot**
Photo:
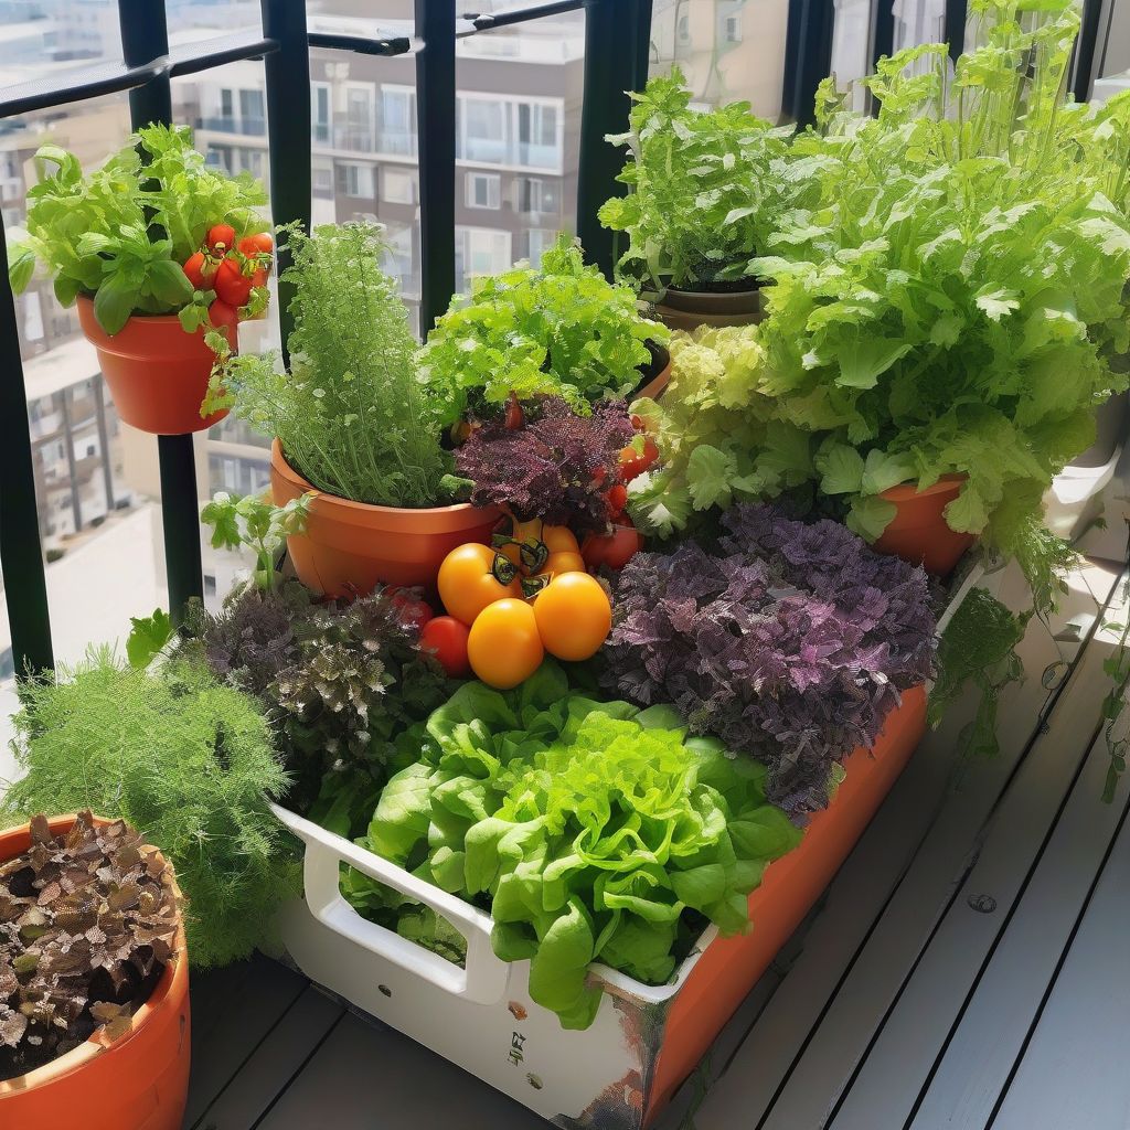
[[[420,380],[408,312],[381,270],[382,231],[284,229],[293,258],[280,276],[294,288],[290,372],[275,354],[236,356],[212,340],[218,360],[200,411],[231,408],[277,438],[319,490],[372,505],[432,506],[452,489],[440,445],[450,414],[434,382]]]

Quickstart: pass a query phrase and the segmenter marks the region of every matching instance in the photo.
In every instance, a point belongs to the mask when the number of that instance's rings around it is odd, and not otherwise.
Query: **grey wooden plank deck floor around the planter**
[[[661,1130],[1130,1127],[1130,790],[1099,800],[1120,568],[1032,625],[998,758],[955,758],[968,703],[927,738]],[[197,976],[193,1010],[186,1127],[547,1124],[267,958]]]

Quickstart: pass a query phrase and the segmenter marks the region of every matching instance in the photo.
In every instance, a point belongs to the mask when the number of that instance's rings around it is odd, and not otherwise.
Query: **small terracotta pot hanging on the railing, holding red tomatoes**
[[[203,432],[227,412],[200,416],[216,355],[205,345],[205,331],[185,333],[175,314],[133,314],[111,337],[94,316],[94,302],[78,298],[78,320],[98,351],[102,375],[118,415],[153,435]],[[238,346],[236,323],[224,322],[232,348]]]

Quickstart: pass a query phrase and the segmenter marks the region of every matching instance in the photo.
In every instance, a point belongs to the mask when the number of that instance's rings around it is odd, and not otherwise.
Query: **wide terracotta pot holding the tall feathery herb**
[[[282,506],[307,490],[316,497],[306,532],[287,538],[287,553],[303,584],[331,597],[372,592],[377,583],[433,590],[444,557],[464,541],[489,544],[502,518],[495,506],[460,503],[401,510],[318,492],[286,461],[276,440],[271,444],[275,504]]]

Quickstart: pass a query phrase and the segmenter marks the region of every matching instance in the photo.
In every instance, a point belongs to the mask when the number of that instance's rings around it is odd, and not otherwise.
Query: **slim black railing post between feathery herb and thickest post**
[[[420,337],[455,290],[455,0],[415,0]]]

